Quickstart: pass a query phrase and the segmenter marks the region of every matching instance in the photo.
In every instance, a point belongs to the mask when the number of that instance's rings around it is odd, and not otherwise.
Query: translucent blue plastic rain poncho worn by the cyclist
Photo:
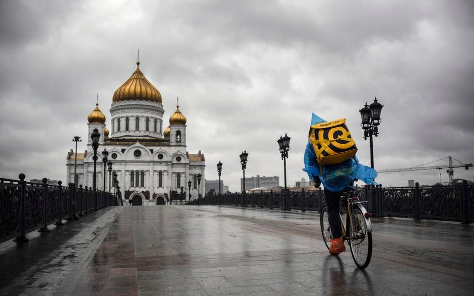
[[[311,125],[325,122],[316,114],[312,114]],[[362,180],[365,184],[376,184],[374,182],[378,173],[374,169],[364,166],[358,162],[357,157],[350,158],[342,163],[319,166],[312,145],[307,143],[304,151],[304,168],[309,179],[324,186],[329,191],[342,191],[347,188],[354,179]]]

